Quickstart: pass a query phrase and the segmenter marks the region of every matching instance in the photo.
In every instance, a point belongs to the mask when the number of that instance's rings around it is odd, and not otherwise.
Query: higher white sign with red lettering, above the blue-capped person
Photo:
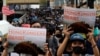
[[[94,26],[96,19],[96,10],[95,9],[80,9],[80,8],[71,8],[64,7],[64,22],[71,24],[74,22],[83,21],[88,23],[91,26]]]

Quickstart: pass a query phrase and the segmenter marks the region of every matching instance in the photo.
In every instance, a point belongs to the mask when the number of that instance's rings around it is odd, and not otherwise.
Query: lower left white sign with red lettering
[[[46,42],[46,29],[12,27],[9,29],[7,40],[10,44],[31,41],[42,48]]]

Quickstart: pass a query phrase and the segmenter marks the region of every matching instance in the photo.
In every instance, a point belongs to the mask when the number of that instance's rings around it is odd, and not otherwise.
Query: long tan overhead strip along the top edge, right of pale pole
[[[40,0],[7,0],[7,4],[10,3],[40,3]]]

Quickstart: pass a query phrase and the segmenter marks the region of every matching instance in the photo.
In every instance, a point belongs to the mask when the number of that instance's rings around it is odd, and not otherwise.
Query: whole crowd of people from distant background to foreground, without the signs
[[[18,54],[26,56],[100,56],[100,35],[93,35],[93,28],[85,22],[63,23],[63,9],[27,9],[26,13],[12,25],[47,30],[44,50],[31,42],[21,42],[14,47]],[[8,43],[5,42],[2,56],[7,56]]]

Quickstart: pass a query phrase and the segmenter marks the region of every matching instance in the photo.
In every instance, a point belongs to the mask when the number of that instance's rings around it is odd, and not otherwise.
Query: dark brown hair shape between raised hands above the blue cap
[[[68,27],[72,27],[71,30],[74,30],[74,33],[85,33],[85,34],[90,32],[88,28],[91,28],[88,24],[84,22],[76,22],[76,23],[71,24]]]

